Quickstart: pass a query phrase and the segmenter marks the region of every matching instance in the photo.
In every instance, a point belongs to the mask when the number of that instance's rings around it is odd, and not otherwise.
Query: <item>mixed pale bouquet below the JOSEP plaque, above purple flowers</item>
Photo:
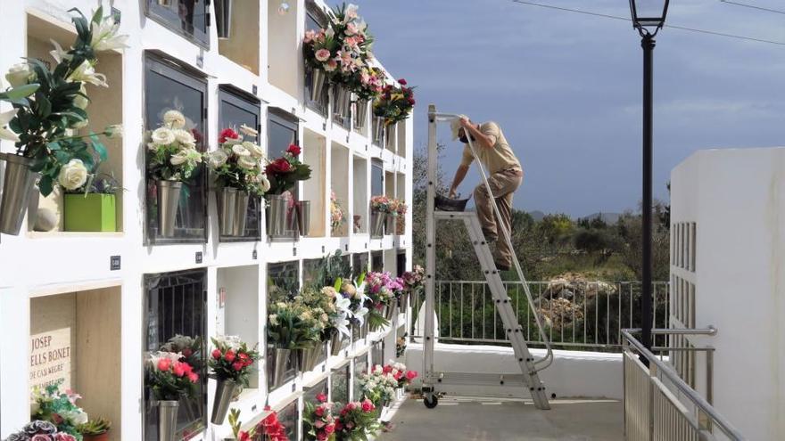
[[[61,392],[62,381],[58,380],[45,388],[33,388],[30,418],[49,421],[56,426],[58,432],[81,440],[78,426],[87,422],[87,412],[76,404],[81,396],[71,390]]]

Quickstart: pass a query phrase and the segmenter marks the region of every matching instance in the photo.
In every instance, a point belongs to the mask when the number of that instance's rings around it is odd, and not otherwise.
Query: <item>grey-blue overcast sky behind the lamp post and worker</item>
[[[536,1],[536,0],[534,0]],[[647,0],[652,1],[652,0]],[[355,0],[375,53],[416,85],[415,149],[427,104],[495,120],[525,168],[516,208],[585,216],[640,200],[640,38],[629,22],[511,0]],[[541,0],[629,17],[626,0]],[[740,3],[785,11],[781,0]],[[785,145],[785,14],[673,0],[655,50],[655,197],[670,170],[708,148]],[[442,127],[440,139],[449,142]],[[460,145],[448,143],[447,175]],[[473,172],[460,189],[471,192]]]

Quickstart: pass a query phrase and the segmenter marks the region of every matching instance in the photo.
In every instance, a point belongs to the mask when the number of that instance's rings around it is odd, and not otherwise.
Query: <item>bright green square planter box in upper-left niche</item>
[[[113,194],[65,194],[63,229],[67,232],[116,232],[117,198]]]

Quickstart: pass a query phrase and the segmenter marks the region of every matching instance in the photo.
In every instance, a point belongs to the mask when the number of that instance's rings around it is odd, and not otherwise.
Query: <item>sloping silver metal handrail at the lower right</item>
[[[682,331],[694,333],[694,334],[706,334],[707,332],[710,332],[710,330],[716,332],[714,328],[706,328],[702,330],[700,329],[682,330]],[[690,385],[685,383],[684,380],[682,380],[682,378],[679,377],[679,374],[673,370],[670,364],[659,360],[657,355],[654,355],[651,351],[649,351],[649,349],[643,346],[643,344],[640,343],[638,339],[635,339],[635,337],[632,336],[632,332],[635,331],[640,331],[640,330],[631,330],[631,329],[622,330],[622,335],[624,336],[624,339],[627,340],[627,342],[630,344],[630,346],[635,348],[638,354],[643,356],[649,363],[654,364],[657,367],[657,371],[662,372],[663,375],[665,375],[665,377],[667,377],[667,379],[671,381],[673,386],[678,388],[679,391],[682,392],[682,394],[687,396],[687,398],[689,398],[690,401],[700,409],[700,412],[705,413],[706,416],[711,418],[711,420],[714,421],[714,424],[723,430],[725,435],[732,437],[732,439],[738,441],[747,439],[741,434],[739,429],[736,429],[731,424],[730,421],[727,421],[725,417],[723,417],[723,415],[717,412],[715,408],[711,404],[709,404],[706,401],[706,399],[703,398],[703,396],[700,396],[698,392],[695,391],[695,389],[690,388]],[[658,331],[665,331],[665,330],[658,330]]]

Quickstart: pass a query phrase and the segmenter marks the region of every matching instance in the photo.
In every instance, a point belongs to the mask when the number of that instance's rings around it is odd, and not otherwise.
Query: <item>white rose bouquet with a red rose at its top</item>
[[[240,126],[240,132],[242,135],[231,128],[223,129],[219,135],[219,149],[205,153],[204,159],[219,187],[263,196],[270,188],[264,175],[264,151],[259,144],[244,138],[256,138],[259,133],[247,126]]]

